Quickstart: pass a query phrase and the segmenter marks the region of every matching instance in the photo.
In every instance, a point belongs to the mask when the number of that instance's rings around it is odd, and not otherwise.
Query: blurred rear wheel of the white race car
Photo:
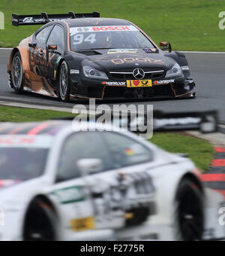
[[[200,188],[188,178],[178,186],[175,198],[175,239],[202,240],[204,232],[204,197]]]

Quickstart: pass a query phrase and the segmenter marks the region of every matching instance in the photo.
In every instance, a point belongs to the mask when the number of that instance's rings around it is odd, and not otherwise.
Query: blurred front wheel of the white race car
[[[58,241],[58,218],[46,203],[31,203],[23,230],[24,241]]]

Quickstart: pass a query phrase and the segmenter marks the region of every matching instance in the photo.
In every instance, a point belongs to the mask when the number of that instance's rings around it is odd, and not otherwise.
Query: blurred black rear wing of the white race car
[[[83,114],[83,111],[73,110],[74,114]],[[105,114],[108,114],[106,123],[119,127],[126,127],[127,130],[133,133],[142,132],[143,126],[151,125],[154,133],[160,132],[183,132],[183,131],[199,131],[200,133],[216,133],[218,131],[218,115],[217,111],[202,111],[202,112],[179,112],[179,113],[164,113],[162,111],[154,111],[153,115],[116,113],[115,111],[95,111],[89,109],[85,111],[83,116],[88,114],[87,120],[90,122],[98,122],[102,120]],[[60,120],[73,120],[73,117],[59,118]],[[58,118],[56,119],[58,120]]]

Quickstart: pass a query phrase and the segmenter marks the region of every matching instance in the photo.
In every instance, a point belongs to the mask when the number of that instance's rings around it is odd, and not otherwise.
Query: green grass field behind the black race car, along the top
[[[14,47],[37,26],[13,27],[11,15],[62,14],[68,11],[100,11],[101,17],[124,18],[136,23],[155,41],[170,41],[174,50],[225,51],[225,31],[220,30],[219,14],[224,0],[1,0],[5,30],[0,31],[0,47]]]

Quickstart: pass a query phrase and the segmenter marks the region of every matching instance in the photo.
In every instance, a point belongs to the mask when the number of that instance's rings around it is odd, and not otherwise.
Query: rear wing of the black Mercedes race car
[[[99,18],[100,13],[94,11],[92,14],[74,14],[70,11],[68,14],[46,14],[40,15],[18,15],[13,14],[12,24],[13,26],[30,26],[30,25],[44,25],[50,21],[65,20],[65,19],[77,19],[77,18]]]

